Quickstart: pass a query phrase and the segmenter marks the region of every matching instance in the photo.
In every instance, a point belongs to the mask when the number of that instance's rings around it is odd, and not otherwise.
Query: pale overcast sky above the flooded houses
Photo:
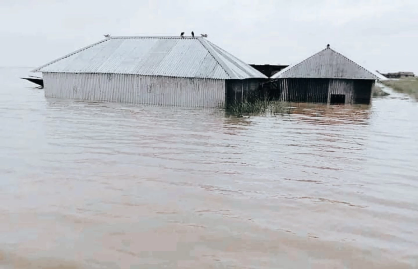
[[[331,44],[381,72],[418,73],[418,0],[0,0],[0,66],[36,67],[112,36],[207,33],[249,64]]]

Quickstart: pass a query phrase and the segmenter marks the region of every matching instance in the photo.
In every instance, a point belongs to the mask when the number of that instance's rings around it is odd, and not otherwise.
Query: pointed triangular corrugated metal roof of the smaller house
[[[298,64],[280,70],[271,78],[379,79],[369,70],[329,47]]]

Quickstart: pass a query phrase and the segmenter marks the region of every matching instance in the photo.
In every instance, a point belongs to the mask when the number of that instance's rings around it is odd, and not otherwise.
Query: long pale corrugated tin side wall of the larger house
[[[223,107],[224,79],[43,73],[46,97],[187,107]]]

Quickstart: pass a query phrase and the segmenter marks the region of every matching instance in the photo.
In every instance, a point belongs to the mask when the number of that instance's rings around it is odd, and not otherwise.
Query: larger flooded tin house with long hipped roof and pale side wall
[[[188,107],[223,107],[267,77],[204,37],[108,37],[32,72],[46,97]]]

